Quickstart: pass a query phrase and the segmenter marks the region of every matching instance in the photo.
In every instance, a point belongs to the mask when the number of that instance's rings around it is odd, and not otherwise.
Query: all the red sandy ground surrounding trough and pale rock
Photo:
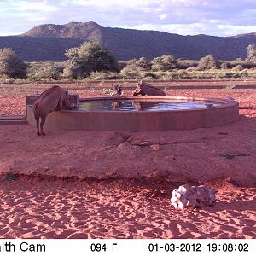
[[[0,114],[23,113],[25,93],[2,96]],[[193,131],[37,137],[31,125],[0,126],[0,238],[256,238],[256,90],[167,94],[232,96],[249,109]],[[217,190],[217,203],[176,211],[172,189],[198,182]]]

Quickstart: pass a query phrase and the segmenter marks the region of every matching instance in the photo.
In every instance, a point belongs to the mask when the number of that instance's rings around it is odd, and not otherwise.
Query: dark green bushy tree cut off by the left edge
[[[0,49],[0,75],[7,75],[10,78],[26,78],[27,65],[13,49]]]

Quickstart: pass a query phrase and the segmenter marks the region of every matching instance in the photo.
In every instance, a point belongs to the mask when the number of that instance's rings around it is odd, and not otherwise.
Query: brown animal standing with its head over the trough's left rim
[[[47,115],[53,111],[61,109],[72,109],[72,105],[68,100],[68,91],[61,89],[59,86],[53,86],[45,90],[34,103],[34,116],[37,121],[38,135],[45,135],[43,126]],[[39,131],[39,119],[41,118]]]

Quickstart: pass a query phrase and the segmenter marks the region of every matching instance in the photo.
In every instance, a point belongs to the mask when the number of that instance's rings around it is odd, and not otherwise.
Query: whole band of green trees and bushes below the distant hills
[[[206,55],[199,61],[175,59],[162,55],[148,60],[145,57],[117,61],[113,54],[97,42],[84,42],[68,49],[65,62],[24,62],[12,49],[0,49],[0,82],[59,81],[102,83],[104,81],[131,82],[134,80],[177,81],[178,79],[248,79],[255,78],[256,47],[247,46],[247,58],[218,61]],[[252,68],[253,67],[253,68]],[[102,81],[102,82],[100,82]]]

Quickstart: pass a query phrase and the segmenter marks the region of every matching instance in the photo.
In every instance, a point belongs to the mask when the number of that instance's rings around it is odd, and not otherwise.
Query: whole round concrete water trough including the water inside
[[[175,96],[95,97],[79,100],[79,108],[50,113],[46,129],[88,131],[191,130],[226,125],[239,117],[236,101]],[[32,105],[27,120],[35,125]]]

